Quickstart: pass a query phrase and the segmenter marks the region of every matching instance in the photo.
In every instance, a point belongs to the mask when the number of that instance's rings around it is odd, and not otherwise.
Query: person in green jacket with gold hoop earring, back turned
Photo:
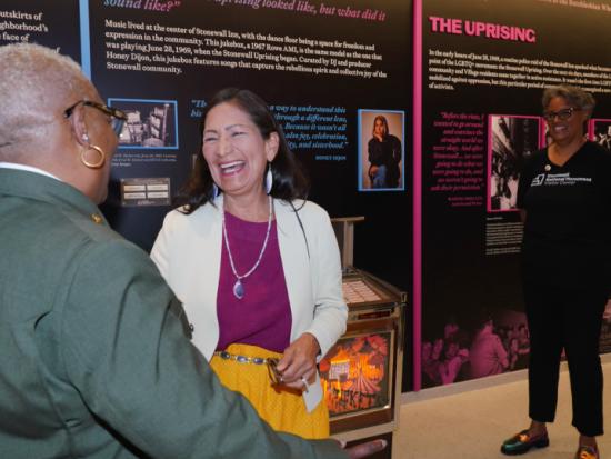
[[[355,459],[383,447],[274,433],[222,388],[154,265],[98,208],[128,117],[77,62],[1,46],[0,100],[2,458]]]

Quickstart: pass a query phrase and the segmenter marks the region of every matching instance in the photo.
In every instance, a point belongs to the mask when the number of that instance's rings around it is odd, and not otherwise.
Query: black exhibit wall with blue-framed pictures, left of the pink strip
[[[410,290],[411,1],[29,0],[0,11],[39,14],[29,21],[48,31],[29,41],[80,60],[128,113],[102,207],[124,237],[151,248],[199,154],[202,108],[240,87],[272,106],[310,199],[331,217],[364,216],[354,265]],[[374,183],[380,116],[397,141],[392,171]]]

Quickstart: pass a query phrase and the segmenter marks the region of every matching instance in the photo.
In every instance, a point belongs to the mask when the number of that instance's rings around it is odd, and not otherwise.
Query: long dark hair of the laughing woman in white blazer
[[[282,127],[271,113],[263,99],[248,89],[226,88],[217,92],[203,109],[201,118],[201,132],[206,124],[206,118],[210,110],[221,103],[234,103],[247,112],[252,122],[261,132],[264,140],[268,140],[272,132],[278,133],[279,147],[276,158],[271,162],[273,186],[271,196],[284,201],[293,199],[307,199],[309,181],[303,173],[294,153],[289,149]],[[201,148],[200,148],[201,151]],[[261,178],[264,181],[264,177]],[[213,180],[203,154],[198,154],[196,164],[189,181],[179,192],[176,203],[183,206],[181,212],[190,214],[200,206],[212,201]]]

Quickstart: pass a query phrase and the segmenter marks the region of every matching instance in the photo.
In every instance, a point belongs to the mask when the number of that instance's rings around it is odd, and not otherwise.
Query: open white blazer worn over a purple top
[[[303,231],[292,207],[273,201],[280,258],[291,305],[291,342],[312,333],[324,356],[345,331],[348,307],[341,289],[338,242],[328,213],[310,201],[294,201]],[[193,326],[193,343],[211,359],[219,341],[217,291],[222,248],[222,194],[186,216],[166,216],[151,251],[159,271],[182,301]],[[308,253],[309,250],[309,253]],[[308,410],[322,399],[317,382],[303,392]]]

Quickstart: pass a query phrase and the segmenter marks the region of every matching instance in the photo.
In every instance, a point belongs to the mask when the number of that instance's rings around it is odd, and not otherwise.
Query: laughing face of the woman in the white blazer
[[[228,197],[264,194],[263,174],[278,152],[278,134],[263,139],[249,114],[237,103],[212,108],[203,127],[202,153],[214,183]]]

